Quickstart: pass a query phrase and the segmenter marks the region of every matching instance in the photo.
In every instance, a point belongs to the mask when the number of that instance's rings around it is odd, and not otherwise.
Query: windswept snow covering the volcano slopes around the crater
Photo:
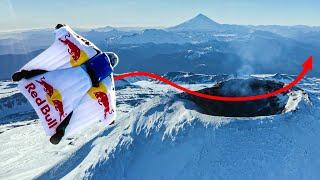
[[[194,90],[228,76],[168,74]],[[201,84],[188,81],[201,79]],[[288,75],[255,75],[290,82]],[[208,79],[210,79],[208,81]],[[198,113],[167,85],[117,82],[116,124],[96,124],[54,146],[14,85],[0,83],[0,179],[319,179],[320,79],[286,114],[227,118]],[[188,85],[189,84],[189,85]],[[31,113],[32,114],[32,113]]]

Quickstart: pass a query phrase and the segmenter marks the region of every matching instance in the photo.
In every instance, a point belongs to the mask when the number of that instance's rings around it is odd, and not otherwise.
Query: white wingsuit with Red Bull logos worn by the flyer
[[[35,109],[48,136],[56,134],[67,117],[64,137],[100,120],[109,125],[116,118],[113,74],[94,87],[83,66],[101,51],[69,26],[61,25],[54,34],[54,43],[19,71],[44,73],[18,79],[19,90]]]

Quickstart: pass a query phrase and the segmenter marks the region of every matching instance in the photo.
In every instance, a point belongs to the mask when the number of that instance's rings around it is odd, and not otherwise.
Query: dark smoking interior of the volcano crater
[[[256,78],[231,79],[220,82],[213,87],[199,90],[198,92],[217,96],[252,96],[272,92],[283,86],[284,83],[272,80]],[[180,96],[193,101],[198,105],[198,110],[204,114],[225,117],[255,117],[281,114],[289,99],[287,93],[285,92],[267,99],[244,102],[207,100],[185,93],[180,94]]]

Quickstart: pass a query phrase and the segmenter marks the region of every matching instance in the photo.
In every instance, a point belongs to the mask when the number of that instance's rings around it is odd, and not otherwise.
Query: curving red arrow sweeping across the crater
[[[276,96],[280,93],[286,92],[289,89],[291,89],[293,86],[295,86],[299,81],[301,81],[301,79],[304,78],[304,76],[308,73],[308,71],[312,70],[312,61],[313,61],[313,57],[310,56],[304,63],[303,63],[303,70],[301,71],[301,73],[296,77],[296,79],[294,79],[291,83],[285,85],[284,87],[282,87],[281,89],[278,89],[276,91],[270,92],[270,93],[266,93],[266,94],[260,94],[260,95],[255,95],[255,96],[239,96],[239,97],[229,97],[229,96],[213,96],[213,95],[208,95],[208,94],[203,94],[203,93],[199,93],[196,91],[192,91],[190,89],[187,89],[185,87],[182,87],[178,84],[175,84],[174,82],[163,78],[159,75],[153,74],[153,73],[149,73],[149,72],[128,72],[128,73],[124,73],[118,76],[115,76],[115,80],[121,80],[123,78],[127,78],[127,77],[133,77],[133,76],[146,76],[152,79],[156,79],[159,80],[163,83],[166,83],[178,90],[181,90],[183,92],[186,92],[188,94],[194,95],[194,96],[198,96],[198,97],[202,97],[202,98],[206,98],[206,99],[211,99],[211,100],[217,100],[217,101],[252,101],[252,100],[258,100],[258,99],[265,99],[265,98],[269,98],[272,96]]]

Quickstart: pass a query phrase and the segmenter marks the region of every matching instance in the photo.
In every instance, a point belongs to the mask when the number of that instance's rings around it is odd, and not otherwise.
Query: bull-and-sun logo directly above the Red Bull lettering
[[[47,100],[49,101],[49,103],[51,105],[54,106],[56,111],[59,112],[60,122],[61,122],[62,118],[67,115],[67,114],[64,113],[61,93],[57,89],[54,89],[53,86],[48,84],[45,81],[44,77],[42,77],[40,80],[36,80],[36,82],[39,83],[43,87],[43,90],[47,94]]]

